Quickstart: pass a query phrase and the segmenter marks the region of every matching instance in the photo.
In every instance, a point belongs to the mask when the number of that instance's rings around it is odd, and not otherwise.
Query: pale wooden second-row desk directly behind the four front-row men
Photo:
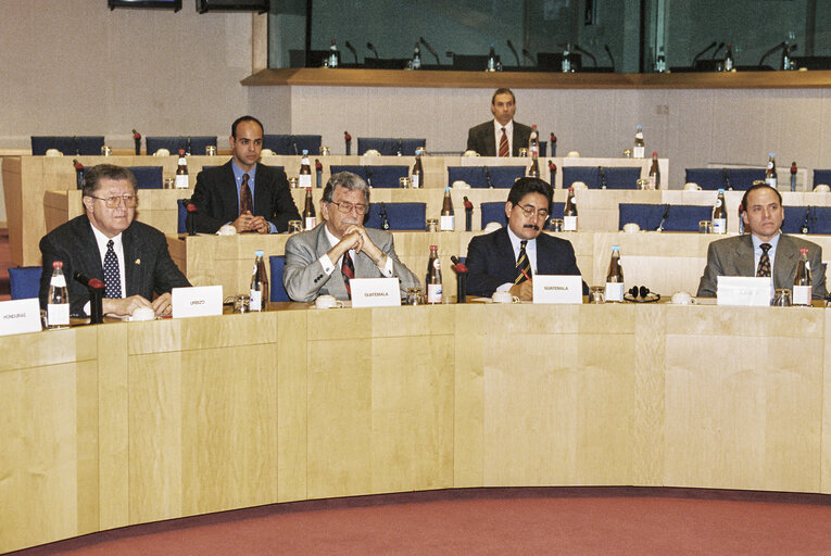
[[[643,191],[646,193],[647,191]],[[395,252],[424,283],[430,245],[439,245],[444,290],[456,294],[455,274],[451,270],[451,255],[467,256],[470,238],[483,232],[466,231],[396,231]],[[680,232],[580,231],[554,236],[567,239],[575,248],[577,265],[587,283],[606,281],[612,245],[620,247],[627,287],[646,286],[663,295],[676,291],[692,294],[698,290],[698,280],[707,263],[707,247],[725,236]],[[285,252],[287,233],[257,236],[167,236],[171,256],[194,286],[222,285],[225,295],[248,291],[254,251],[262,249],[266,256]],[[809,236],[822,247],[824,256],[831,255],[831,236]]]

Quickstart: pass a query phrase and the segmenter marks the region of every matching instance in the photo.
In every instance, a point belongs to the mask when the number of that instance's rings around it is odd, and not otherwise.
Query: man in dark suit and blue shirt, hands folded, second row
[[[261,164],[263,125],[253,116],[231,124],[228,138],[234,156],[226,164],[197,176],[192,202],[197,206],[197,231],[214,233],[230,224],[237,232],[277,233],[289,229],[300,213],[289,190],[286,173]]]

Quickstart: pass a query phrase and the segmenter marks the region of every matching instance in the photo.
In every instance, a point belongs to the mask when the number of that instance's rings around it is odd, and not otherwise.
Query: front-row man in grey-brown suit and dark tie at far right
[[[799,261],[799,248],[807,248],[814,282],[813,298],[823,299],[826,273],[822,269],[822,248],[781,232],[784,210],[779,191],[764,184],[754,185],[745,191],[742,208],[742,219],[750,233],[709,244],[698,296],[715,298],[719,276],[770,276],[775,289],[791,289]]]

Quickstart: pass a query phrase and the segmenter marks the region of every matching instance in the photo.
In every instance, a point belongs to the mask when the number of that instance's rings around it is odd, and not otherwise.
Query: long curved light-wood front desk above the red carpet
[[[829,311],[292,308],[0,338],[0,552],[413,490],[831,492]]]

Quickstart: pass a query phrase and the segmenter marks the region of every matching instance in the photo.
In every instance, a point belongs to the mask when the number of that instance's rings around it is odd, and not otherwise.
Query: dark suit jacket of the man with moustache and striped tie
[[[467,293],[490,298],[496,288],[513,282],[516,277],[516,257],[507,228],[487,236],[477,236],[467,245]],[[580,276],[571,242],[540,233],[537,236],[537,274]],[[589,287],[583,280],[583,295]]]

